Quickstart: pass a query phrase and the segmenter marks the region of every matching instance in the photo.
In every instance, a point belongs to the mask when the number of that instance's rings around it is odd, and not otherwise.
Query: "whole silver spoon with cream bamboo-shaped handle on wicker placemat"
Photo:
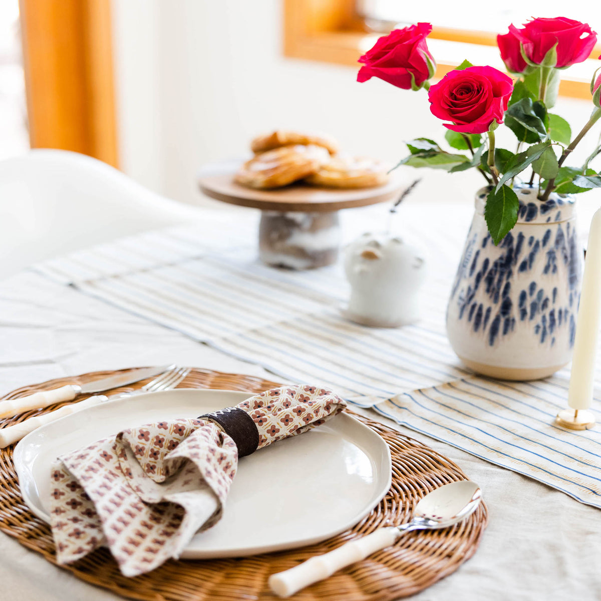
[[[316,555],[290,570],[273,574],[269,577],[269,587],[279,597],[290,597],[301,588],[328,578],[337,570],[393,545],[404,532],[453,526],[474,513],[481,498],[480,487],[470,480],[445,484],[418,502],[410,522],[379,528],[334,551]]]

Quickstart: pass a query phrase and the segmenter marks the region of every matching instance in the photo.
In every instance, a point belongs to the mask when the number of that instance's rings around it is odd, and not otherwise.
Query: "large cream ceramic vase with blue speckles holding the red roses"
[[[475,214],[447,308],[448,338],[474,371],[507,380],[550,376],[570,361],[582,278],[575,199],[515,188],[517,224],[498,246]]]

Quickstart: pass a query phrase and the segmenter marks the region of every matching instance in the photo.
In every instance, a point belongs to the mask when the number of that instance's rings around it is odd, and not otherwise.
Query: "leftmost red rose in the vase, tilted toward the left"
[[[371,50],[359,58],[359,63],[364,66],[359,69],[357,81],[377,77],[403,90],[423,87],[436,69],[426,44],[430,31],[430,23],[418,23],[383,35]]]

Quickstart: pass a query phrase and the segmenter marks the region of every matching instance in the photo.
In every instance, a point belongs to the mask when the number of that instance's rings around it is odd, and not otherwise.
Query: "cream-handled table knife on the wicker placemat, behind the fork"
[[[103,392],[112,388],[127,386],[127,384],[139,382],[139,380],[145,380],[148,377],[158,376],[170,367],[172,366],[142,367],[126,371],[126,373],[118,374],[117,376],[94,380],[94,382],[88,382],[87,384],[67,384],[66,386],[61,386],[61,388],[35,392],[35,394],[30,394],[28,397],[0,401],[0,418],[11,417],[17,415],[17,413],[23,413],[31,409],[41,409],[54,403],[72,401],[78,394],[93,394],[94,392]]]

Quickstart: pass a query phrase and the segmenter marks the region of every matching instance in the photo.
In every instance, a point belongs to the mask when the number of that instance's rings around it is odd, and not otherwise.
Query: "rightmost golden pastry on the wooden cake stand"
[[[367,157],[334,157],[305,182],[329,188],[373,188],[388,182],[388,166]]]

